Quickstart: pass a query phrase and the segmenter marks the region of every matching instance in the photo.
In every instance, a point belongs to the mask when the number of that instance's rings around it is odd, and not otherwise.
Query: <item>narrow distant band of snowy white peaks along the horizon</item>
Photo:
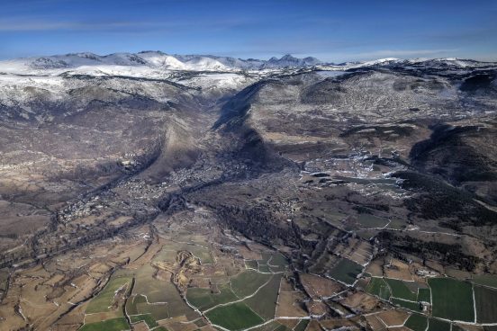
[[[491,62],[479,62],[461,58],[380,58],[372,61],[346,62],[341,64],[321,62],[318,58],[295,58],[290,54],[268,60],[256,58],[231,58],[212,55],[171,55],[161,51],[139,53],[70,53],[39,58],[17,58],[0,61],[0,73],[60,75],[62,73],[84,75],[124,75],[161,77],[170,71],[239,72],[280,69],[317,68],[323,70],[348,70],[361,67],[434,67],[439,69],[488,67]]]

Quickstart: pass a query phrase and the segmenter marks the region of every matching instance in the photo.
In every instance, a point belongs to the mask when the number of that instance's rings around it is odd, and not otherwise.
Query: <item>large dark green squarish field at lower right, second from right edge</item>
[[[471,283],[450,278],[432,278],[428,282],[431,288],[434,317],[474,321]]]

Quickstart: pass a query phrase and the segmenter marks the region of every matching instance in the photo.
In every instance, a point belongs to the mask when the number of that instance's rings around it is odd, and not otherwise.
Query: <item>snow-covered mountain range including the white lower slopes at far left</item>
[[[495,70],[497,63],[460,58],[382,58],[336,65],[321,63],[317,58],[294,58],[291,55],[261,60],[210,55],[170,55],[160,51],[142,51],[136,54],[114,53],[105,56],[71,53],[0,61],[0,107],[2,104],[26,103],[29,94],[25,91],[45,91],[43,95],[46,97],[50,96],[53,100],[63,99],[72,89],[86,85],[85,79],[112,80],[128,77],[149,82],[168,81],[183,85],[185,88],[193,88],[201,91],[203,96],[211,97],[239,91],[267,77],[312,71],[320,72],[320,76],[331,77],[347,72],[376,69],[420,76],[433,73],[465,75],[473,69],[482,72]],[[493,85],[496,84],[494,76],[489,76],[488,79]],[[50,91],[50,94],[47,91]],[[134,94],[136,91],[128,92]],[[167,98],[154,89],[150,89],[147,93],[155,100]]]

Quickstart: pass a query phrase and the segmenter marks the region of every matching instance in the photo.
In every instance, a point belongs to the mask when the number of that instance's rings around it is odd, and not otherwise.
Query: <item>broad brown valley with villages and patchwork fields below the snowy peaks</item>
[[[0,70],[0,329],[495,329],[496,68]]]

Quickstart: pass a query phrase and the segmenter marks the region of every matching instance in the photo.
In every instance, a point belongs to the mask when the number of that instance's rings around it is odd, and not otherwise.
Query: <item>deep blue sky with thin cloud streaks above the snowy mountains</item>
[[[0,58],[149,49],[497,60],[497,1],[0,0]]]

